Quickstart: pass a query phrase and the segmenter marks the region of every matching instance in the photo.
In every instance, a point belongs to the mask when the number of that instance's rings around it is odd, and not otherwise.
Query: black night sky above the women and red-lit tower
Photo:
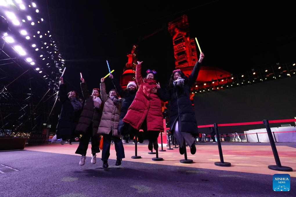
[[[80,89],[79,72],[89,89],[99,87],[108,73],[106,59],[119,79],[134,44],[139,45],[143,69],[155,69],[157,80],[165,86],[175,68],[167,25],[183,14],[188,16],[190,37],[198,38],[205,53],[203,66],[240,73],[268,63],[295,61],[295,10],[289,4],[159,2],[48,0],[52,30],[61,35],[69,88]],[[46,8],[46,1],[40,3]]]

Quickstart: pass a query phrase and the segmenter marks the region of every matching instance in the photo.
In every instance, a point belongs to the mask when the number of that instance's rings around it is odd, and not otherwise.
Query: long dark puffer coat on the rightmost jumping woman
[[[166,92],[162,88],[157,89],[158,96],[161,100],[164,102],[170,100],[170,129],[173,129],[178,118],[179,131],[192,134],[197,134],[198,132],[195,113],[189,95],[190,87],[197,79],[200,66],[201,63],[197,61],[183,88],[174,86]]]

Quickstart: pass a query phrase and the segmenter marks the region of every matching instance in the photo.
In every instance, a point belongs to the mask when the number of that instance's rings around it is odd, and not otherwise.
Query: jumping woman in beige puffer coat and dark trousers
[[[103,135],[102,161],[103,167],[108,167],[108,159],[110,156],[111,139],[113,139],[116,151],[115,165],[121,165],[121,160],[125,157],[121,135],[117,132],[119,122],[121,98],[115,89],[106,93],[105,78],[101,79],[101,95],[104,102],[103,115],[98,129],[98,134]]]

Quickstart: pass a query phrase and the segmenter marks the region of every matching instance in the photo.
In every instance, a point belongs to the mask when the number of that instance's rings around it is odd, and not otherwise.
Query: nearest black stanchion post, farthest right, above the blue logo
[[[284,172],[293,171],[293,169],[291,167],[281,165],[281,161],[279,160],[279,154],[278,154],[278,152],[276,150],[276,145],[274,143],[274,139],[273,139],[272,134],[271,134],[271,129],[270,129],[268,120],[263,120],[263,124],[266,127],[266,131],[267,131],[267,134],[268,134],[271,149],[272,149],[272,152],[274,153],[274,159],[276,160],[276,165],[269,165],[268,168],[271,169],[271,170],[284,171]]]

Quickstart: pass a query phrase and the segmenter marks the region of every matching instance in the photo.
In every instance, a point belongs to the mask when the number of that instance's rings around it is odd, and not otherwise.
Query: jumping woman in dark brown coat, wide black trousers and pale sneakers
[[[82,134],[79,142],[79,146],[76,150],[76,154],[81,154],[79,165],[85,164],[86,151],[89,146],[89,140],[91,139],[91,163],[96,163],[96,153],[99,150],[99,136],[97,135],[98,127],[102,117],[102,99],[98,88],[94,88],[91,95],[87,88],[86,82],[81,78],[81,90],[85,103],[76,126],[75,131]]]

